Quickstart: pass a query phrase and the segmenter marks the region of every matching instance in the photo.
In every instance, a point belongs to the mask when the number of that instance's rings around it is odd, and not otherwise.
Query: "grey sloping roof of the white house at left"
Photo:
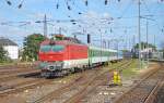
[[[0,37],[0,46],[17,46],[17,44],[10,39]]]

